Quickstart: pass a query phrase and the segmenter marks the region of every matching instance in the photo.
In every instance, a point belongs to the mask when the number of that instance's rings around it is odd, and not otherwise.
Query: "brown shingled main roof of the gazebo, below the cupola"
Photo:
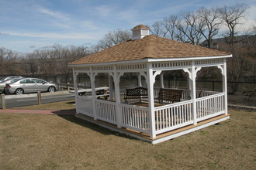
[[[143,39],[121,42],[109,49],[77,59],[69,65],[109,63],[137,59],[167,59],[181,57],[229,56],[230,53],[195,46],[185,42],[145,36]]]

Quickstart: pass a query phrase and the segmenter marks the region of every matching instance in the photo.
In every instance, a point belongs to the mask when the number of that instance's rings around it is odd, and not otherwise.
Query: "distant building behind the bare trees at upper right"
[[[211,45],[209,48],[219,49],[221,45],[227,44],[227,42],[230,42],[230,38],[213,39],[213,42],[211,42]],[[256,35],[235,36],[234,44],[240,44],[241,46],[256,44]],[[208,42],[205,40],[200,44],[200,46],[208,48]]]

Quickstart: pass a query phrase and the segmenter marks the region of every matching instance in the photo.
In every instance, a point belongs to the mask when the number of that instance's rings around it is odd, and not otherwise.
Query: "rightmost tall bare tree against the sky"
[[[237,25],[240,19],[244,18],[248,6],[245,4],[237,4],[234,6],[224,6],[220,8],[221,19],[228,28],[228,32],[223,34],[227,43],[234,45],[234,36],[237,35]]]

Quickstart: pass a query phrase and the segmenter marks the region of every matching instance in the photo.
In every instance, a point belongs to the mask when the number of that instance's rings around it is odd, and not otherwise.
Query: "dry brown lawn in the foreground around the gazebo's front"
[[[0,114],[0,169],[255,169],[256,112],[150,145],[73,116]]]

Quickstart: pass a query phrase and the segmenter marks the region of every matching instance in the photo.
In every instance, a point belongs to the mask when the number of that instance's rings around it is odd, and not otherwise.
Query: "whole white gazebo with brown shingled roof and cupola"
[[[69,63],[73,68],[76,117],[128,134],[152,144],[176,138],[230,118],[227,113],[227,63],[230,53],[149,35],[147,26],[132,29],[132,39]],[[196,74],[216,66],[222,73],[222,91],[199,91]],[[186,89],[164,87],[164,71],[183,70]],[[92,93],[79,95],[78,74],[90,77]],[[95,76],[106,73],[108,93],[99,98]],[[124,73],[137,73],[138,86],[120,89]],[[161,87],[154,87],[156,76]],[[147,87],[141,87],[141,77]],[[171,99],[172,97],[178,100]]]

